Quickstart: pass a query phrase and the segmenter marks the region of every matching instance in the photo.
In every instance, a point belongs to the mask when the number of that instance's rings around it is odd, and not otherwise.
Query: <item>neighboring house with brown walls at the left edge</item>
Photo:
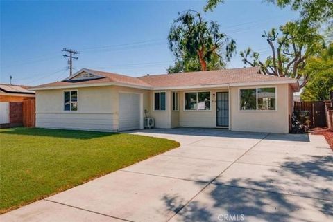
[[[35,92],[28,87],[31,86],[0,84],[0,128],[23,125],[23,101],[35,100]]]

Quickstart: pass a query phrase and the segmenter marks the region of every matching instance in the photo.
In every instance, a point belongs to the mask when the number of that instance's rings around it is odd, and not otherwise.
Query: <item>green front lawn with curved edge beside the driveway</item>
[[[0,129],[0,212],[178,146],[172,140],[126,133]]]

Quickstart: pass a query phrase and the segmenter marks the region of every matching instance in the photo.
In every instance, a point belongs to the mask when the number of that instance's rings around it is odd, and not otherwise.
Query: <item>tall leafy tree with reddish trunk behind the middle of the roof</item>
[[[169,36],[169,48],[176,57],[169,73],[221,69],[235,53],[236,43],[219,30],[219,24],[205,21],[199,12],[179,13]]]

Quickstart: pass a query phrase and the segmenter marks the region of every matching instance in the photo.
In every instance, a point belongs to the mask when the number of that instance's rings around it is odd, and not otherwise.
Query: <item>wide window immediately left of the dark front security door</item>
[[[210,92],[185,93],[185,110],[210,110]]]

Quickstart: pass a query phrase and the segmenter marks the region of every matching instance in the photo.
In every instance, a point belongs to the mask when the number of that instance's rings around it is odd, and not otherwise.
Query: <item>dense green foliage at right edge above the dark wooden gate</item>
[[[329,100],[333,90],[333,43],[320,56],[309,59],[305,72],[309,82],[302,91],[302,100]]]

